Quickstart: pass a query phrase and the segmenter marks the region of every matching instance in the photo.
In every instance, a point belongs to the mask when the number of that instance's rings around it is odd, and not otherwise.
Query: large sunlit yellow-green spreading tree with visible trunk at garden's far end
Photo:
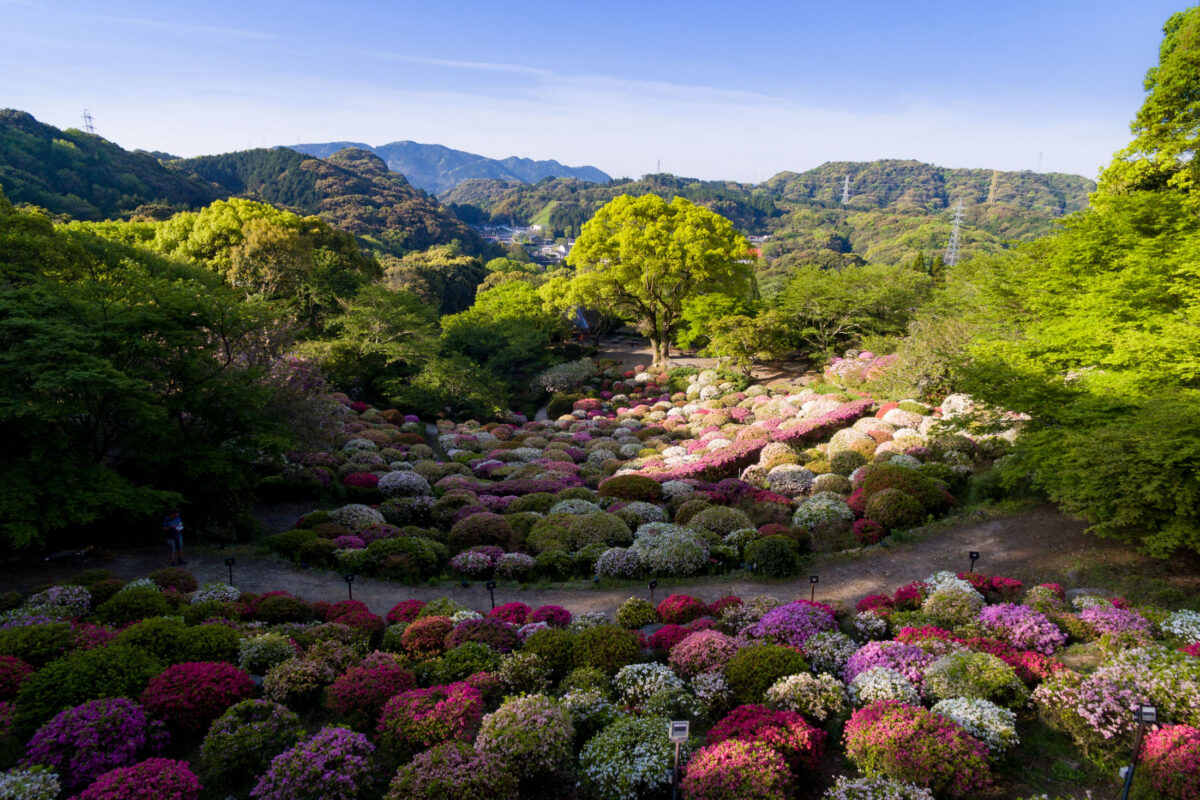
[[[636,321],[662,366],[686,300],[751,293],[749,249],[733,223],[680,197],[622,194],[583,225],[568,257],[569,297]]]

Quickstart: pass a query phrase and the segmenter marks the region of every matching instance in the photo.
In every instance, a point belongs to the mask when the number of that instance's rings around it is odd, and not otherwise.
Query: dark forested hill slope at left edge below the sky
[[[0,186],[13,203],[40,205],[77,219],[127,216],[139,205],[196,207],[220,191],[130,152],[94,133],[60,131],[32,115],[0,110]]]

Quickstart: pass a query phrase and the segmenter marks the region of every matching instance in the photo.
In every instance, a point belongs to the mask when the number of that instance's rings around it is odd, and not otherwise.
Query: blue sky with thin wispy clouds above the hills
[[[398,139],[614,176],[827,161],[1094,176],[1160,0],[0,0],[0,107],[182,156]]]

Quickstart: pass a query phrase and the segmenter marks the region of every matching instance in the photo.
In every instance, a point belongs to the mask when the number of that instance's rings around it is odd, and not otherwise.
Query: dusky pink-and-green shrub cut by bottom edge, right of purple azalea
[[[517,800],[516,778],[502,759],[448,741],[396,771],[384,800]]]

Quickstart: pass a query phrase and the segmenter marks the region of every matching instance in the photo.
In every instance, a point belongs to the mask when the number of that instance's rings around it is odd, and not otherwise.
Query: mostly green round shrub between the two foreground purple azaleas
[[[200,775],[209,788],[248,786],[304,730],[300,717],[270,700],[242,700],[226,710],[204,735]]]

